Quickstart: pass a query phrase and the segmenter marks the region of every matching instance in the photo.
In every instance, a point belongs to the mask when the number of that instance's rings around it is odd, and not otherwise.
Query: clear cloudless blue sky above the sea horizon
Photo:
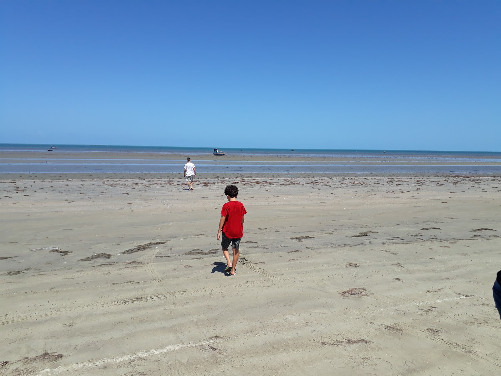
[[[0,12],[0,143],[501,151],[497,0]]]

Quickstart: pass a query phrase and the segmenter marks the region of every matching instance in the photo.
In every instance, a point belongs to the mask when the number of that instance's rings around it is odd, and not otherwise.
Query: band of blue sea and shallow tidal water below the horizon
[[[0,151],[47,152],[46,144],[0,144]],[[117,153],[183,154],[191,156],[197,173],[452,173],[501,174],[501,152],[426,151],[426,150],[328,150],[328,149],[250,149],[219,148],[224,157],[212,156],[208,147],[115,146],[115,145],[55,145],[51,153],[99,152],[99,158],[0,158],[0,173],[182,173],[184,160],[113,159]],[[110,153],[110,158],[103,154]],[[21,153],[20,153],[21,154]],[[111,154],[114,154],[113,156]],[[11,154],[12,155],[12,154]],[[213,160],[196,160],[196,156],[211,156]],[[297,161],[237,161],[231,156],[297,156]],[[97,156],[97,154],[96,154]],[[301,161],[315,157],[315,161]],[[347,162],[322,161],[322,157],[349,158]],[[363,158],[363,160],[358,160]],[[158,158],[158,156],[157,156]],[[212,159],[211,158],[211,159]],[[370,160],[368,163],[367,159]],[[406,164],[398,164],[404,162]],[[431,165],[428,163],[440,163]],[[485,164],[483,164],[485,163]],[[468,165],[469,164],[469,165]]]

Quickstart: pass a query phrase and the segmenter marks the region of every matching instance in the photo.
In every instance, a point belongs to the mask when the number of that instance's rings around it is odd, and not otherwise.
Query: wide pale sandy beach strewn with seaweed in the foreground
[[[227,183],[248,212],[236,277]],[[499,177],[0,187],[0,374],[499,372]]]

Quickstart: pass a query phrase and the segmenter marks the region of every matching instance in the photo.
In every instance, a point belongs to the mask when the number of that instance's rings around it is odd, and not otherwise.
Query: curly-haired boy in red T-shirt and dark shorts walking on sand
[[[216,239],[221,240],[222,231],[221,248],[227,263],[224,272],[229,273],[229,275],[235,275],[235,267],[238,262],[238,248],[240,248],[240,240],[242,240],[243,236],[243,220],[247,211],[241,202],[236,201],[236,197],[238,196],[236,185],[226,185],[224,194],[228,202],[222,206]],[[229,259],[228,247],[230,243],[233,249],[233,262]]]

